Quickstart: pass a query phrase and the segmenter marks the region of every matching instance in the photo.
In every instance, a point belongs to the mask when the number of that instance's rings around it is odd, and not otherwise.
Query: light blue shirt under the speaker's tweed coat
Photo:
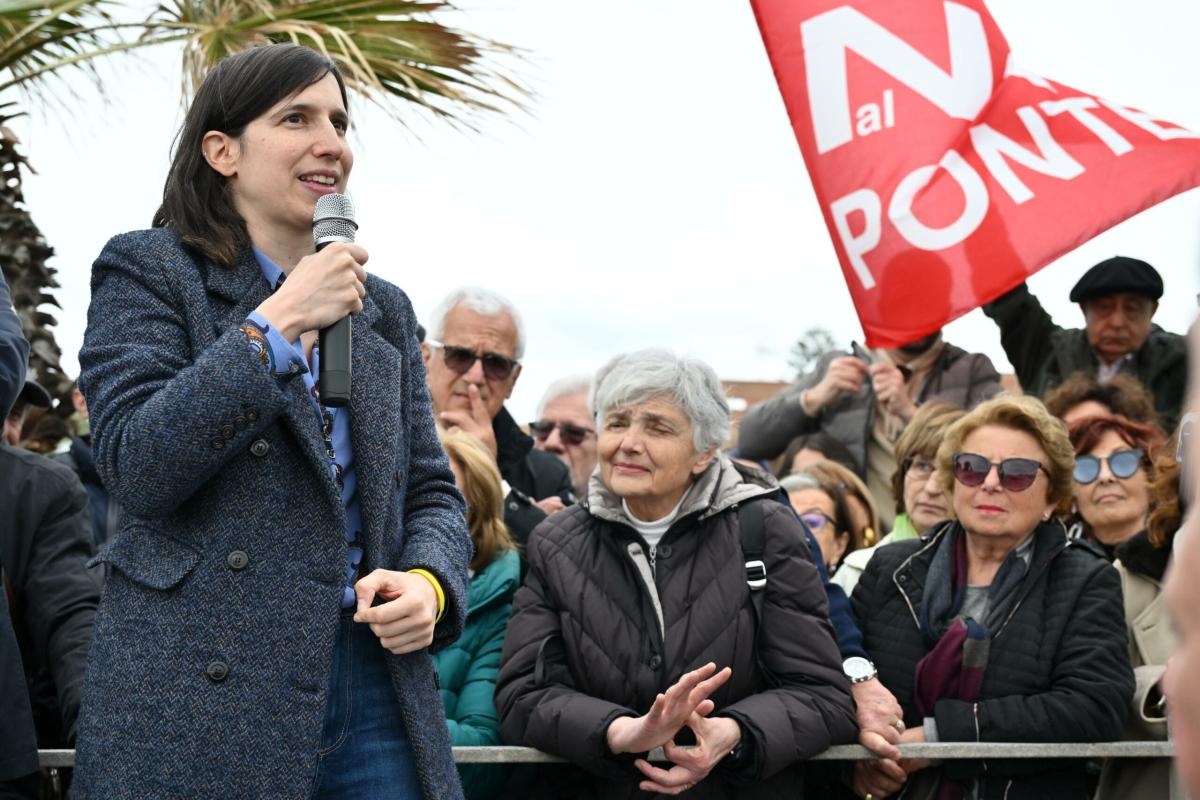
[[[254,258],[258,259],[258,266],[263,270],[263,277],[266,278],[266,283],[271,285],[272,290],[278,289],[286,277],[283,270],[257,247],[254,248]],[[270,348],[270,368],[272,373],[278,375],[280,383],[289,380],[298,372],[304,378],[305,387],[308,390],[308,398],[312,401],[313,420],[318,428],[323,427],[325,422],[322,416],[320,405],[317,402],[317,379],[314,377],[320,374],[319,345],[314,343],[312,347],[312,365],[310,367],[305,362],[304,345],[300,343],[300,339],[288,342],[257,311],[251,312],[247,319],[265,336],[268,347]],[[346,555],[346,585],[342,588],[342,608],[353,608],[355,604],[354,582],[358,581],[359,565],[362,564],[362,510],[359,506],[359,481],[354,470],[354,447],[350,444],[350,409],[326,407],[325,413],[334,420],[331,440],[334,453],[336,455],[336,458],[331,459],[329,468],[332,470],[334,479],[336,480],[337,468],[341,467],[342,504],[346,507],[346,542],[348,548]]]

